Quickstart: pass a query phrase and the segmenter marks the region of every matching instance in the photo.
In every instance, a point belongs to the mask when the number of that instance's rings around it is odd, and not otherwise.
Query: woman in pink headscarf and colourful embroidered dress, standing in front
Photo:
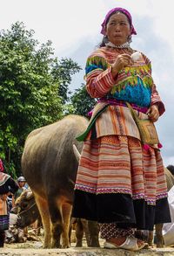
[[[154,224],[171,222],[171,215],[162,145],[143,143],[127,102],[140,119],[152,122],[164,114],[164,103],[151,61],[131,48],[137,32],[130,12],[110,10],[101,33],[103,41],[85,67],[86,89],[97,105],[89,127],[77,137],[84,148],[72,217],[96,220],[105,248],[138,251],[146,245],[136,239],[136,229],[153,230]]]

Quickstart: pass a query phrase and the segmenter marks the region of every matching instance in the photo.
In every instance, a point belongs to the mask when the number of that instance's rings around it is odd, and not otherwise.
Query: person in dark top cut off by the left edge
[[[15,180],[3,171],[3,161],[0,159],[0,247],[4,245],[5,230],[9,229],[10,209],[7,197],[10,193],[14,194],[18,190]]]

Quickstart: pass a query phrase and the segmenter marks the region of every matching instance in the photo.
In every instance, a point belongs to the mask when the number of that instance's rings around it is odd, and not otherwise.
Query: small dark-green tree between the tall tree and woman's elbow
[[[75,93],[70,97],[70,109],[74,114],[80,114],[88,117],[88,113],[96,104],[96,99],[90,97],[90,94],[87,93],[85,85],[82,84]]]

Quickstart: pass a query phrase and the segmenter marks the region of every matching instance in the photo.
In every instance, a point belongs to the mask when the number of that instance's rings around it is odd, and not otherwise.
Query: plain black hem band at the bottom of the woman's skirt
[[[72,217],[98,223],[116,222],[118,226],[153,230],[154,224],[171,222],[167,198],[149,205],[144,199],[133,200],[128,194],[92,194],[75,190]]]

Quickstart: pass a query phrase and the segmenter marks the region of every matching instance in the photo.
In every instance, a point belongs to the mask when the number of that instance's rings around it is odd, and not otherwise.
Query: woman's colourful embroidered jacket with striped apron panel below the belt
[[[125,67],[117,74],[116,80],[113,79],[111,64],[117,55],[122,53],[131,54],[132,50],[102,47],[98,48],[87,59],[85,80],[86,89],[90,96],[104,100],[129,101],[140,107],[150,107],[152,104],[157,104],[159,114],[163,114],[165,111],[164,104],[151,77],[151,61],[144,54],[142,54],[141,59],[134,63],[134,66]],[[148,118],[147,114],[141,112],[138,114],[142,119]],[[117,105],[104,107],[104,104],[97,103],[93,109],[90,124],[94,121],[95,116],[97,116],[95,119],[97,137],[130,135],[140,139],[135,121],[127,107]],[[90,138],[90,134],[86,138]]]

